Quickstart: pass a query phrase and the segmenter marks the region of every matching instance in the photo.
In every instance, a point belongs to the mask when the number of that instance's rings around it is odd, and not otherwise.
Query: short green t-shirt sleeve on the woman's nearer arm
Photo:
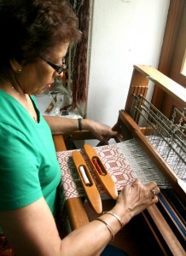
[[[0,210],[24,207],[42,197],[38,157],[24,134],[0,124]]]

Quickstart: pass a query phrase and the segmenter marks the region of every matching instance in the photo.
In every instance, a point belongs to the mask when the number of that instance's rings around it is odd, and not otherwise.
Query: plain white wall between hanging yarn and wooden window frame
[[[113,126],[134,64],[157,67],[170,0],[94,0],[86,117]]]

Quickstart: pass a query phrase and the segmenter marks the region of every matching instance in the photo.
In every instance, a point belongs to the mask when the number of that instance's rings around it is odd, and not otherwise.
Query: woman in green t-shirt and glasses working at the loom
[[[110,214],[61,240],[55,196],[61,171],[52,133],[78,130],[74,119],[40,115],[32,95],[62,75],[69,44],[81,33],[72,9],[57,0],[0,3],[0,227],[16,255],[99,255],[131,218],[158,201],[156,183],[126,186]],[[84,119],[82,128],[101,140],[116,135]],[[86,250],[89,248],[89,250]]]

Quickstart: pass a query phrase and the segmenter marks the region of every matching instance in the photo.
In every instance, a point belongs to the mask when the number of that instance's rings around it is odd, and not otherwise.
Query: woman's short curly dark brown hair
[[[0,1],[0,68],[46,58],[57,43],[78,42],[78,19],[64,0]]]

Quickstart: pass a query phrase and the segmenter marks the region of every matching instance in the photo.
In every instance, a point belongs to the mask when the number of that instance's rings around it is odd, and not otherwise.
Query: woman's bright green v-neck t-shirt
[[[38,123],[34,122],[15,98],[0,90],[0,211],[25,207],[44,196],[55,214],[60,180],[51,131],[43,116],[38,111]]]

